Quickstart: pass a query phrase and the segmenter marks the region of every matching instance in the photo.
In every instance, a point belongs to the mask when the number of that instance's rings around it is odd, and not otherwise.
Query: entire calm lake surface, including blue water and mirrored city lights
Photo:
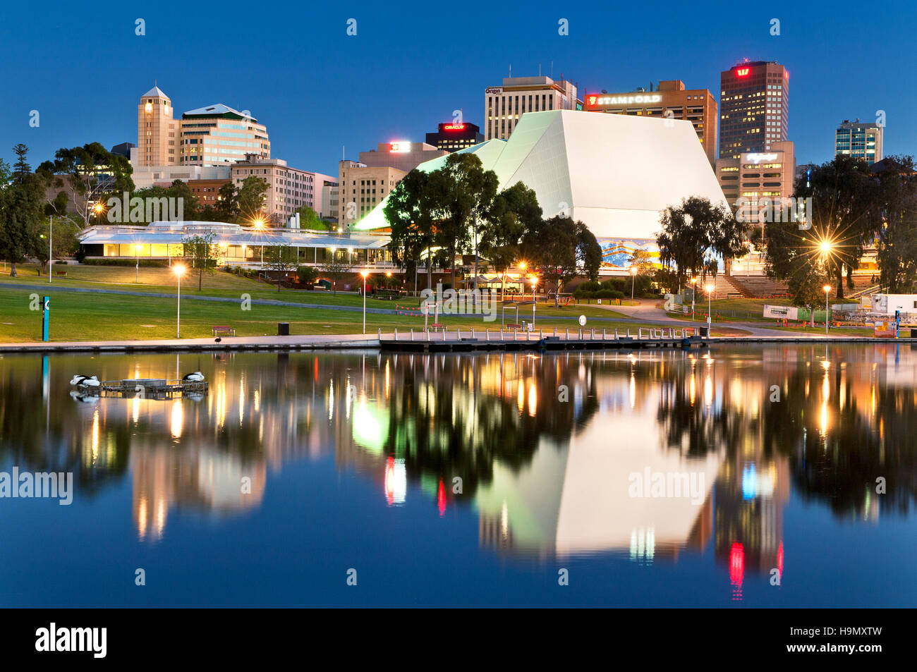
[[[915,400],[897,344],[6,356],[0,471],[74,492],[0,499],[0,604],[913,606]]]

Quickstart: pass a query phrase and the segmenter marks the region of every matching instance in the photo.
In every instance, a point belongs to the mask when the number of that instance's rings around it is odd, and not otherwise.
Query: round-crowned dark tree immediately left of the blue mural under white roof
[[[564,281],[584,275],[590,280],[599,277],[602,248],[595,236],[580,221],[555,215],[526,233],[522,249],[545,276],[556,283],[554,304],[559,304],[559,294]]]

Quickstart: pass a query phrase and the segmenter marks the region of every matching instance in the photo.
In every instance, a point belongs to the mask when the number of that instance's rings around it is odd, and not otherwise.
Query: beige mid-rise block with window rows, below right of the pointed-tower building
[[[288,166],[282,159],[265,159],[256,154],[248,154],[230,167],[230,179],[237,189],[249,177],[259,177],[268,183],[263,212],[275,224],[282,224],[304,205],[319,212],[322,187],[326,181],[334,182],[329,175],[301,171]]]

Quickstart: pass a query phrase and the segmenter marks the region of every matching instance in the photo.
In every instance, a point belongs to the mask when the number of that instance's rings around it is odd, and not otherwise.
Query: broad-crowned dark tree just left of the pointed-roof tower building
[[[130,161],[112,154],[98,142],[83,147],[61,148],[53,161],[44,161],[36,171],[48,190],[62,190],[76,206],[83,226],[92,223],[93,204],[105,204],[109,197],[134,191]]]

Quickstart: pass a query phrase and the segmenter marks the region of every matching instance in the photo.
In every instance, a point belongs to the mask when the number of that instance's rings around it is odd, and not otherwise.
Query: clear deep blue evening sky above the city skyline
[[[135,35],[135,20],[146,35]],[[357,19],[357,36],[346,34]],[[558,20],[569,20],[569,36]],[[770,35],[771,18],[780,36]],[[886,154],[917,153],[917,4],[848,2],[6,3],[0,9],[0,157],[33,166],[55,149],[137,142],[154,81],[183,112],[224,103],[268,127],[271,156],[337,174],[337,160],[392,139],[422,141],[483,90],[553,73],[586,89],[680,79],[719,99],[740,59],[790,71],[797,162],[830,160],[842,119],[887,117]],[[581,97],[581,96],[580,96]],[[29,127],[38,110],[40,126]]]

